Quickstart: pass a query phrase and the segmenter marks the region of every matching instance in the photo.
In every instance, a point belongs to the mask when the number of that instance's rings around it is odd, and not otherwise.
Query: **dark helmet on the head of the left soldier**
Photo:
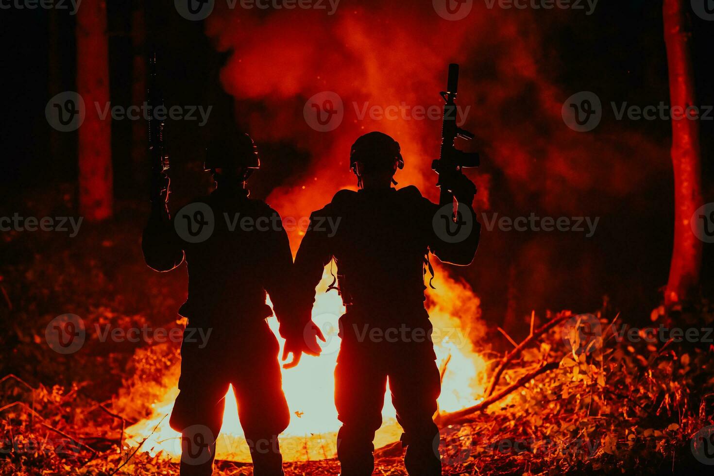
[[[261,168],[258,148],[248,134],[221,136],[211,141],[206,148],[204,171],[215,171],[216,168],[246,168],[246,178],[253,171]]]

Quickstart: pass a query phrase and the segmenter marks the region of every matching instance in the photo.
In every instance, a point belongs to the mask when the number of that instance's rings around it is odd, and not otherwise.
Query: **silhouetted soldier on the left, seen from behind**
[[[290,368],[302,353],[318,355],[319,330],[291,312],[292,254],[280,216],[248,198],[246,179],[260,167],[247,135],[211,143],[205,170],[216,189],[171,220],[166,202],[152,202],[142,249],[154,270],[168,271],[185,260],[188,318],[181,344],[180,392],[170,424],[182,433],[181,475],[211,475],[221,430],[224,395],[232,384],[238,417],[251,450],[253,474],[283,475],[278,434],[290,420],[282,390],[278,340],[268,328],[271,308],[286,339],[283,360]],[[310,332],[314,330],[314,332]]]

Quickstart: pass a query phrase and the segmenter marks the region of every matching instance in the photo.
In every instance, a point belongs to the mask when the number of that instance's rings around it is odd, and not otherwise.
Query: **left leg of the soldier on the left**
[[[181,476],[210,476],[221,431],[228,377],[216,370],[210,349],[181,345],[181,378],[169,425],[181,432]]]

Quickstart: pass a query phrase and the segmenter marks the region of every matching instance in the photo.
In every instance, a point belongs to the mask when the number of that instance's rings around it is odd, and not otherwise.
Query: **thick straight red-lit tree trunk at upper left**
[[[111,217],[111,115],[97,112],[109,104],[109,39],[106,3],[87,1],[76,15],[77,92],[86,117],[79,128],[79,211],[88,221]]]

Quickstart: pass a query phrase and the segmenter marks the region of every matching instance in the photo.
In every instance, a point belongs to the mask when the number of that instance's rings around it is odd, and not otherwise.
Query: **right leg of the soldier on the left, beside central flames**
[[[238,417],[251,450],[253,475],[281,476],[278,435],[288,427],[290,412],[283,393],[279,345],[267,324],[250,338],[250,351],[243,353],[233,378]]]

